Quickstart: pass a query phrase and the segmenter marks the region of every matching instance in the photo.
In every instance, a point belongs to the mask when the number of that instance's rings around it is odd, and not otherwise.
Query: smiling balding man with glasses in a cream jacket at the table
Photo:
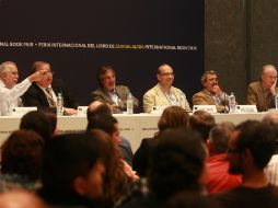
[[[159,83],[143,95],[143,111],[146,113],[151,113],[153,106],[170,105],[179,105],[186,112],[192,111],[183,91],[172,86],[174,72],[171,66],[161,65],[158,68],[157,78]]]

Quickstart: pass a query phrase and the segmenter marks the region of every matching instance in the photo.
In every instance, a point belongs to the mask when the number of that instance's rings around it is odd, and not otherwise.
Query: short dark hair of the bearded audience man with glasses
[[[258,120],[246,120],[235,127],[239,131],[236,149],[248,149],[254,159],[254,165],[264,169],[275,152],[276,130],[273,125]]]

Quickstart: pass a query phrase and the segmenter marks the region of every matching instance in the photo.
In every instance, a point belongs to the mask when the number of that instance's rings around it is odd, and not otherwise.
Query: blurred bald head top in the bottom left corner
[[[44,201],[33,193],[18,189],[0,194],[0,208],[45,208]]]

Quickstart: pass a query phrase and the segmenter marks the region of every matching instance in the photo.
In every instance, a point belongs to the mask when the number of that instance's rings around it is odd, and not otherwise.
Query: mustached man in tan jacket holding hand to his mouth
[[[219,86],[216,71],[206,71],[200,81],[204,90],[193,95],[193,104],[216,105],[218,113],[228,111],[229,95]]]

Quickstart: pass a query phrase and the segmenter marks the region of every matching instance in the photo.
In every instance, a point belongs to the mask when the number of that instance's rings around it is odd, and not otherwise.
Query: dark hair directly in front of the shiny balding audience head
[[[90,117],[86,130],[99,128],[107,132],[109,136],[112,136],[115,130],[114,125],[117,123],[118,120],[112,115],[108,114],[94,115]]]

